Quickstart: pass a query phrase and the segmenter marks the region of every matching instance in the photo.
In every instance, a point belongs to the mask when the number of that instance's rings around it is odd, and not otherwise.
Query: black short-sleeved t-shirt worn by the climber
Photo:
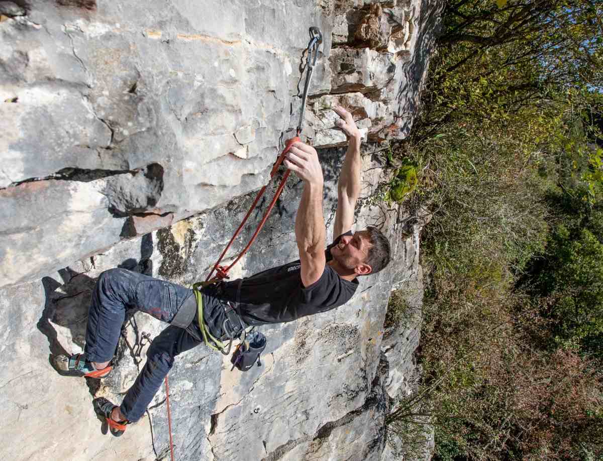
[[[351,234],[348,231],[343,235]],[[341,237],[337,237],[325,250],[327,262],[333,259],[330,249],[339,243]],[[213,299],[207,299],[204,303],[207,309],[203,316],[206,324],[215,331],[223,318],[219,312],[221,309],[215,309],[216,303],[212,302],[218,298],[239,303],[239,312],[248,325],[291,322],[347,303],[356,292],[356,287],[358,280],[349,281],[339,277],[328,264],[315,283],[304,287],[301,283],[300,260],[296,260],[206,291]]]

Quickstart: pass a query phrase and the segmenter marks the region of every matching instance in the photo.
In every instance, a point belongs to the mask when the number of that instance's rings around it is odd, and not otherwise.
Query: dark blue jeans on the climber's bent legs
[[[96,281],[88,312],[84,352],[90,362],[113,358],[126,309],[136,309],[163,322],[171,322],[192,290],[148,275],[110,269]],[[138,421],[153,400],[174,357],[201,344],[183,328],[170,325],[151,342],[147,363],[128,389],[119,410],[128,421]]]

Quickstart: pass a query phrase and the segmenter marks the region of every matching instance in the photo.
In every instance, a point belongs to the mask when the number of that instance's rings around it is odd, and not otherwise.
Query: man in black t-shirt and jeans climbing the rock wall
[[[57,357],[55,365],[59,371],[106,377],[112,369],[127,307],[171,324],[151,343],[147,363],[120,406],[106,398],[95,399],[96,412],[107,419],[114,435],[121,435],[126,424],[136,422],[144,414],[175,356],[207,343],[207,335],[232,338],[233,333],[236,336],[241,332],[225,331],[225,325],[236,323],[225,320],[235,316],[245,328],[290,322],[335,309],[352,298],[358,287],[357,277],[387,266],[390,244],[384,234],[374,227],[351,231],[361,187],[361,136],[349,111],[340,106],[334,110],[340,117],[336,126],[347,135],[349,146],[339,175],[333,228],[337,237],[326,250],[323,172],[315,149],[296,142],[286,154],[285,166],[304,184],[295,217],[297,261],[248,278],[204,287],[201,311],[197,311],[194,291],[186,287],[125,269],[110,269],[99,276],[92,293],[84,352]],[[202,312],[201,319],[198,312]]]

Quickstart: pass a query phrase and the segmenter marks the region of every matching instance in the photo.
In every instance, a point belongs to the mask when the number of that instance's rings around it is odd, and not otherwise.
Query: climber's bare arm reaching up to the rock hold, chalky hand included
[[[351,230],[352,224],[354,224],[354,210],[361,190],[362,159],[360,157],[360,131],[356,127],[352,114],[339,105],[333,110],[341,117],[336,124],[346,133],[349,141],[337,186],[337,212],[335,213],[335,225],[333,225],[333,239],[336,239],[344,232]]]

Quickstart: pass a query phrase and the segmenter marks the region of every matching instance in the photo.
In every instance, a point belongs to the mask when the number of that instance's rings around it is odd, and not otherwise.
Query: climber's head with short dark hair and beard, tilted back
[[[356,275],[379,272],[390,263],[390,242],[376,227],[367,227],[352,236],[343,236],[331,248],[333,259]]]

